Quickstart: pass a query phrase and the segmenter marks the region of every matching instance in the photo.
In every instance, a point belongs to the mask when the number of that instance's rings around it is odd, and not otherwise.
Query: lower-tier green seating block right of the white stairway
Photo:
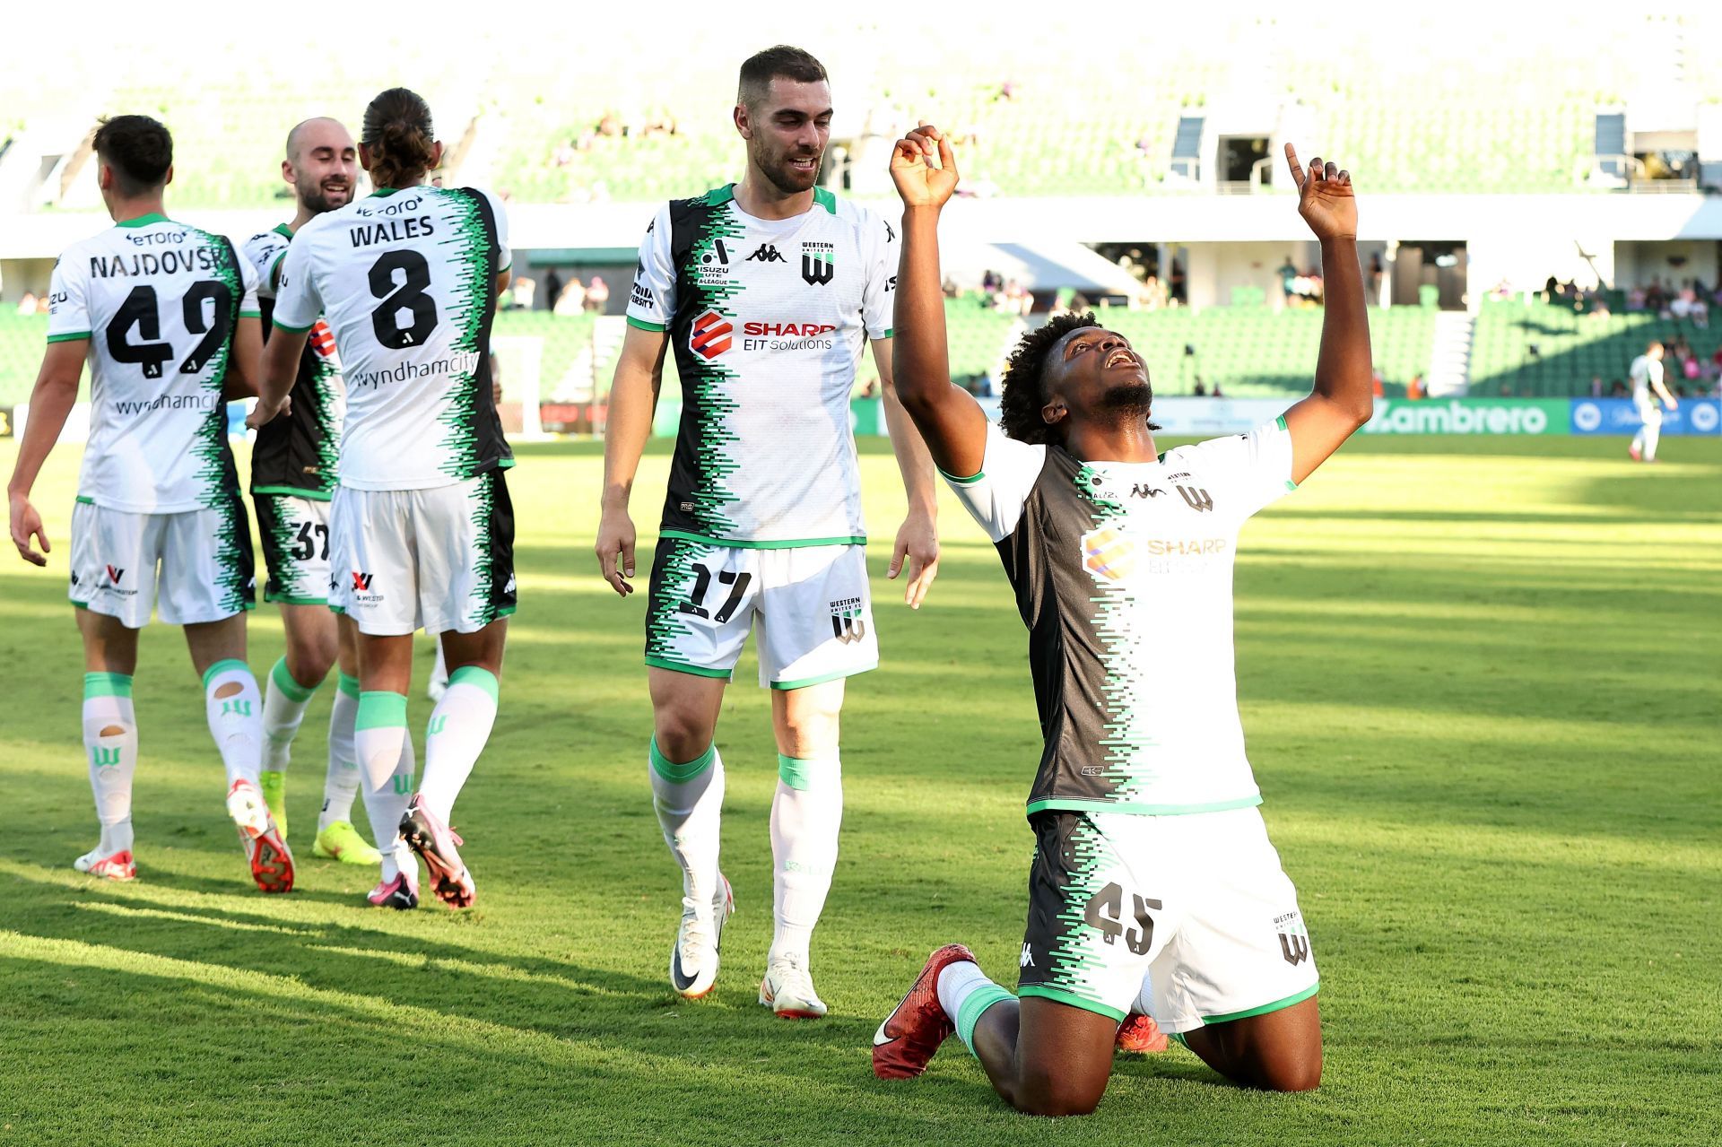
[[[1722,346],[1722,324],[1708,329],[1651,313],[1581,315],[1570,305],[1484,300],[1471,346],[1471,393],[1479,396],[1584,396],[1626,381],[1632,358],[1660,338],[1684,336],[1700,358]],[[1536,355],[1531,355],[1536,346]],[[1669,377],[1669,388],[1684,379]]]

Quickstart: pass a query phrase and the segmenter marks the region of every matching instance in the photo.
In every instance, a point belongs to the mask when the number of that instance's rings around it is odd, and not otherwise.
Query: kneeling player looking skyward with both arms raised
[[[1159,455],[1147,369],[1092,315],[1023,338],[1002,431],[951,384],[937,226],[956,164],[935,127],[897,143],[897,389],[1004,560],[1045,749],[1021,999],[940,947],[873,1038],[882,1078],[920,1075],[956,1032],[1016,1109],[1088,1113],[1114,1045],[1142,1042],[1135,1013],[1238,1083],[1321,1080],[1309,933],[1243,753],[1231,568],[1243,522],[1369,418],[1371,363],[1350,176],[1286,158],[1328,284],[1314,393]]]

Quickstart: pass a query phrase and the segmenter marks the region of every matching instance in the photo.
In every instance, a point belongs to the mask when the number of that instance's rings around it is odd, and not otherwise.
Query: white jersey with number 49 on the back
[[[215,508],[238,489],[222,381],[257,274],[226,236],[141,215],[53,267],[48,341],[88,339],[77,496],[110,510]]]

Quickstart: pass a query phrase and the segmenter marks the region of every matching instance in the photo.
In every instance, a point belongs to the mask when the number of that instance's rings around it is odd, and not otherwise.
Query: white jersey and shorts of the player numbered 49
[[[251,530],[222,382],[257,276],[226,236],[162,215],[71,246],[48,341],[90,344],[90,439],[72,512],[71,599],[119,618],[219,622],[253,604]]]

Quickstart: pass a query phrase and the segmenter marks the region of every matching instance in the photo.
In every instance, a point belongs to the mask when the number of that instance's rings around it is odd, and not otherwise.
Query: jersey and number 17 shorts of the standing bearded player
[[[754,620],[761,685],[878,665],[849,394],[890,338],[895,229],[813,196],[758,219],[718,188],[660,208],[641,245],[629,322],[668,332],[682,379],[647,665],[728,677]]]

